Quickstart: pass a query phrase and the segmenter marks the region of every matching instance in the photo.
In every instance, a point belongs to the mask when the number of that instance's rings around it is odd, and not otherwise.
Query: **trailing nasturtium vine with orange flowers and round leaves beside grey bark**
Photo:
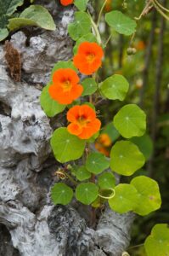
[[[59,124],[61,127],[54,131],[50,139],[54,157],[62,163],[56,174],[63,179],[62,183],[56,183],[51,189],[52,200],[54,204],[66,205],[75,193],[77,201],[91,205],[91,208],[104,209],[108,203],[115,212],[149,214],[161,207],[161,195],[155,180],[138,176],[127,179],[132,179],[131,183],[116,184],[114,176],[114,172],[121,176],[132,176],[144,166],[145,160],[149,160],[152,142],[145,134],[146,115],[136,104],[124,104],[112,116],[112,121],[106,124],[104,114],[99,109],[102,101],[106,104],[105,99],[124,101],[129,90],[127,79],[120,73],[100,79],[104,48],[111,37],[110,34],[105,43],[99,32],[105,2],[97,23],[85,11],[87,0],[62,0],[60,3],[64,6],[74,3],[78,10],[74,21],[68,25],[70,38],[75,41],[74,55],[68,61],[55,63],[40,98],[42,109],[48,117],[59,113],[60,118],[64,112]],[[25,9],[18,22],[23,18],[38,21],[39,26],[51,26],[50,19],[46,24],[43,18],[39,20],[41,15],[37,9],[41,8],[31,6]],[[34,20],[32,13],[37,20]],[[6,16],[3,18],[3,22],[7,22]],[[110,30],[123,35],[132,35],[136,30],[136,22],[117,10],[108,12],[105,20]],[[1,23],[0,20],[0,27]],[[19,27],[17,22],[11,26]],[[2,35],[5,35],[4,30]],[[146,247],[146,251],[150,255],[151,249]]]

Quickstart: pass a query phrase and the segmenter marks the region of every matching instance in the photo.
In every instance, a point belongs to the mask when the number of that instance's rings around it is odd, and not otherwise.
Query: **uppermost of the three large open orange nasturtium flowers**
[[[83,42],[80,44],[73,62],[81,73],[90,75],[99,69],[103,56],[104,51],[99,44]]]

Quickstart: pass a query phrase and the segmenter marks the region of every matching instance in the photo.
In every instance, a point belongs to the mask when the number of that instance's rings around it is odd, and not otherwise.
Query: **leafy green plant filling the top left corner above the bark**
[[[23,0],[0,0],[0,41],[7,38],[10,31],[22,26],[39,26],[47,30],[55,30],[54,20],[48,9],[31,4],[21,14],[17,13],[17,8],[23,3]]]

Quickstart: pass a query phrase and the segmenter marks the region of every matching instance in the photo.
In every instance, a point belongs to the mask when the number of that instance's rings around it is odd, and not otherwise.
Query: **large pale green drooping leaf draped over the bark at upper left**
[[[10,31],[19,29],[22,26],[40,26],[47,30],[56,29],[52,16],[41,5],[31,5],[21,13],[19,18],[9,19],[8,21]]]

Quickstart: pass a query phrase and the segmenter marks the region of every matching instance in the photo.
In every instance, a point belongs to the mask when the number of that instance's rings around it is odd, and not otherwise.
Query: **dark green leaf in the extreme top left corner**
[[[0,17],[12,15],[15,10],[24,3],[24,0],[0,0]]]

